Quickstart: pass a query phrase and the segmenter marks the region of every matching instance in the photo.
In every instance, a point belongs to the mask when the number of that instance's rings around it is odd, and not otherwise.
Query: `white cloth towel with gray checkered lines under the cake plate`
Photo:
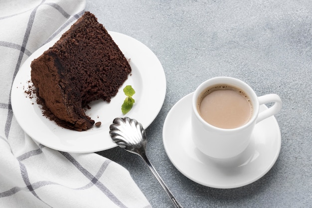
[[[0,208],[151,208],[125,168],[95,153],[37,145],[14,118],[19,67],[84,8],[85,0],[0,2]]]

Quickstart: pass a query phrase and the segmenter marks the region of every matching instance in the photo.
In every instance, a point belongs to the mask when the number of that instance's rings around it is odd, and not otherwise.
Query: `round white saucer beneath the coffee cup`
[[[281,131],[274,116],[258,123],[250,145],[230,160],[202,154],[191,138],[192,93],[180,99],[163,124],[163,145],[172,164],[190,180],[212,188],[231,189],[253,183],[276,162],[281,149]],[[267,107],[262,105],[260,111]]]

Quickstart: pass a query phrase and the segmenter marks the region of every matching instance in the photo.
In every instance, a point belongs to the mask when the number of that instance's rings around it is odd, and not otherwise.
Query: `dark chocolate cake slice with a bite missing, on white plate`
[[[124,54],[90,12],[31,63],[31,81],[44,114],[77,131],[94,124],[84,108],[97,99],[110,102],[130,72]]]

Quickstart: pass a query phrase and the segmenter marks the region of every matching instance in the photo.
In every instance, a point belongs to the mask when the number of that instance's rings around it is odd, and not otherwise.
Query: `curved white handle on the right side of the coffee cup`
[[[282,100],[280,96],[278,96],[277,94],[263,95],[263,96],[258,97],[258,100],[259,100],[259,105],[262,105],[265,103],[273,103],[273,102],[275,102],[275,104],[269,109],[259,113],[258,118],[257,118],[257,123],[259,123],[260,121],[270,116],[273,116],[274,114],[278,113],[282,108]]]

